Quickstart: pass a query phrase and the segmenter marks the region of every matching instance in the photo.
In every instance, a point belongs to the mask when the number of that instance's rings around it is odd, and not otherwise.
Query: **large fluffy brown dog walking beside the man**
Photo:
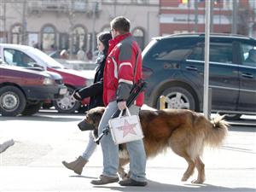
[[[85,121],[94,125],[95,132],[102,118],[105,108],[93,108],[86,113]],[[154,157],[172,148],[172,151],[183,157],[189,164],[183,173],[182,181],[193,174],[195,167],[198,177],[192,183],[205,181],[205,165],[200,156],[206,145],[218,147],[228,131],[228,124],[223,116],[217,115],[211,121],[201,113],[186,109],[164,109],[159,111],[142,110],[139,113],[143,128],[143,142],[147,158]],[[119,149],[119,175],[125,177],[123,166],[129,163],[129,156],[125,144]],[[126,153],[124,153],[126,152]],[[125,155],[124,155],[125,154]]]

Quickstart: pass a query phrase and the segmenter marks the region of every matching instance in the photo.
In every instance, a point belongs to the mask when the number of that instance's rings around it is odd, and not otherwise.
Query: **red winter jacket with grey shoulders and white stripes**
[[[137,70],[135,64],[137,61]],[[134,73],[136,73],[134,77]],[[119,35],[109,41],[108,58],[103,75],[103,102],[105,106],[113,101],[126,101],[132,84],[142,79],[142,55],[131,33]],[[144,94],[141,93],[135,105],[141,107]]]

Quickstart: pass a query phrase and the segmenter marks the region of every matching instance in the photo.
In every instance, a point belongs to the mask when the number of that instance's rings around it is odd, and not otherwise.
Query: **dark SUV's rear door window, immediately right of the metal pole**
[[[210,61],[232,63],[232,44],[210,44]]]

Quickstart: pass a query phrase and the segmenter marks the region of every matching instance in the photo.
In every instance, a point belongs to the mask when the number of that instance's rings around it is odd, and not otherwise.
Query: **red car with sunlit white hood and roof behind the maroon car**
[[[93,70],[82,72],[67,69],[49,55],[39,49],[20,44],[0,44],[0,55],[3,61],[9,65],[33,68],[42,67],[44,70],[61,74],[64,84],[67,86],[67,94],[59,100],[52,101],[55,109],[60,113],[74,113],[82,107],[81,102],[73,99],[73,91],[93,83]],[[89,103],[84,99],[83,105]],[[51,103],[49,103],[49,106]]]

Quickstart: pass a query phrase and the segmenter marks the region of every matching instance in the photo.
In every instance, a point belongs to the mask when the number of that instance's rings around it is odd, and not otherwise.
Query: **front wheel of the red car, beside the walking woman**
[[[59,113],[74,113],[81,107],[81,103],[73,98],[73,91],[72,87],[67,87],[66,95],[53,102]]]

